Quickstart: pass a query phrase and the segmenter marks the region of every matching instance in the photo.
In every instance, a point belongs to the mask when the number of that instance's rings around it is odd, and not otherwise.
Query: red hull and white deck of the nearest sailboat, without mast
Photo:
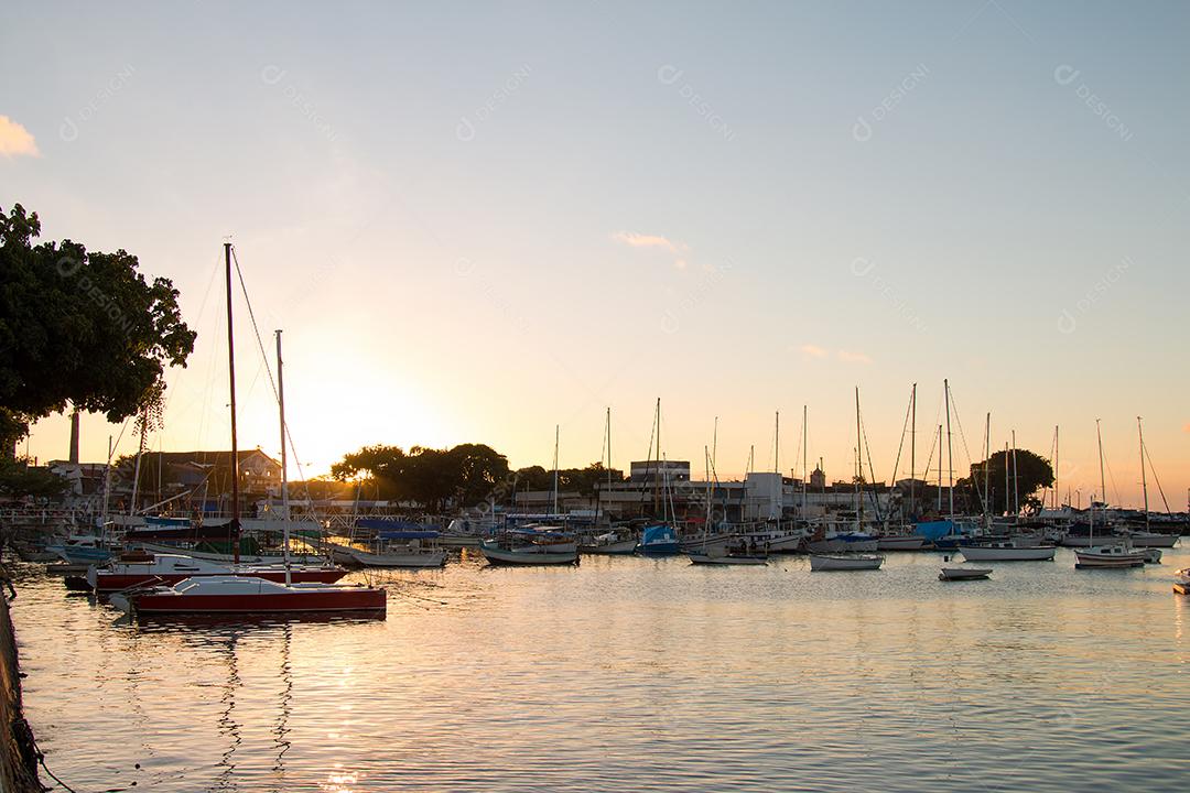
[[[138,615],[242,615],[384,611],[382,589],[343,584],[280,584],[248,575],[187,578],[173,586],[125,590],[111,597]]]

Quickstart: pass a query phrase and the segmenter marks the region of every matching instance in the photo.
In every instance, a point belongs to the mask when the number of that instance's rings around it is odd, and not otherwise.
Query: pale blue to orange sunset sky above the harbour
[[[1179,510],[1188,33],[1177,2],[6,4],[0,207],[180,289],[151,448],[228,446],[230,239],[270,355],[284,329],[292,476],[370,443],[549,467],[556,426],[587,465],[607,408],[626,467],[660,398],[668,459],[701,471],[718,416],[720,478],[800,474],[806,405],[845,479],[858,388],[888,480],[945,378],[959,473],[989,413],[994,449],[1057,426],[1085,504],[1101,418],[1135,505],[1144,416]],[[240,446],[277,454],[237,301]],[[120,429],[84,417],[83,458]]]

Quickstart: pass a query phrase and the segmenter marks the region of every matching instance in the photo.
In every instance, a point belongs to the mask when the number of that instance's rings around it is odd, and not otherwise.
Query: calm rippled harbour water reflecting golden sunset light
[[[1190,779],[1170,575],[940,555],[390,573],[383,622],[130,625],[25,566],[25,706],[79,791],[1082,791]],[[139,768],[137,768],[139,763]]]

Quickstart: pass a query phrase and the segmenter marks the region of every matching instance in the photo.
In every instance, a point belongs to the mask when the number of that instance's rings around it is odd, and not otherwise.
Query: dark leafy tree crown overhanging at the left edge
[[[31,421],[65,410],[119,422],[159,418],[167,366],[186,366],[195,333],[177,290],[137,272],[137,257],[70,240],[33,244],[37,213],[0,208],[0,455]]]

